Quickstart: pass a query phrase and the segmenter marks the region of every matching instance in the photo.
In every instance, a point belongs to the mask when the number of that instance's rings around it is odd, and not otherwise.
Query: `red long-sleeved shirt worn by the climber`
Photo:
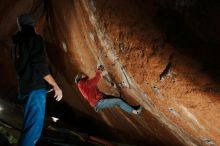
[[[101,71],[96,70],[96,74],[92,79],[88,77],[83,78],[77,84],[79,91],[82,93],[83,97],[88,100],[89,104],[93,107],[102,98],[103,94],[99,91],[97,83],[101,78]]]

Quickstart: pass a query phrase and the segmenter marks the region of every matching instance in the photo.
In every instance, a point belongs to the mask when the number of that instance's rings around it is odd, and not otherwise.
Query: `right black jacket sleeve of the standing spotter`
[[[34,70],[43,78],[50,74],[43,39],[36,35],[31,43],[30,60]]]

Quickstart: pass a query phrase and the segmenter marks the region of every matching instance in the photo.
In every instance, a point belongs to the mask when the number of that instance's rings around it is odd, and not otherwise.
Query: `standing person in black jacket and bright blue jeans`
[[[19,99],[24,102],[23,131],[20,146],[34,146],[41,136],[45,116],[47,84],[57,101],[62,99],[62,90],[51,76],[43,39],[35,33],[35,22],[30,15],[17,17],[19,31],[13,36],[12,59],[14,62]]]

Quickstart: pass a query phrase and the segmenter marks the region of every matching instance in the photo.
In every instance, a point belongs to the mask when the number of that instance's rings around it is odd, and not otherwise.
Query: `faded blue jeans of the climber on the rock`
[[[132,110],[134,110],[130,105],[128,105],[126,102],[124,102],[120,98],[115,98],[114,96],[107,96],[107,97],[113,97],[113,98],[103,98],[99,100],[96,104],[95,111],[98,112],[101,109],[111,108],[113,106],[118,106],[122,110],[126,111],[127,113],[131,113]]]

